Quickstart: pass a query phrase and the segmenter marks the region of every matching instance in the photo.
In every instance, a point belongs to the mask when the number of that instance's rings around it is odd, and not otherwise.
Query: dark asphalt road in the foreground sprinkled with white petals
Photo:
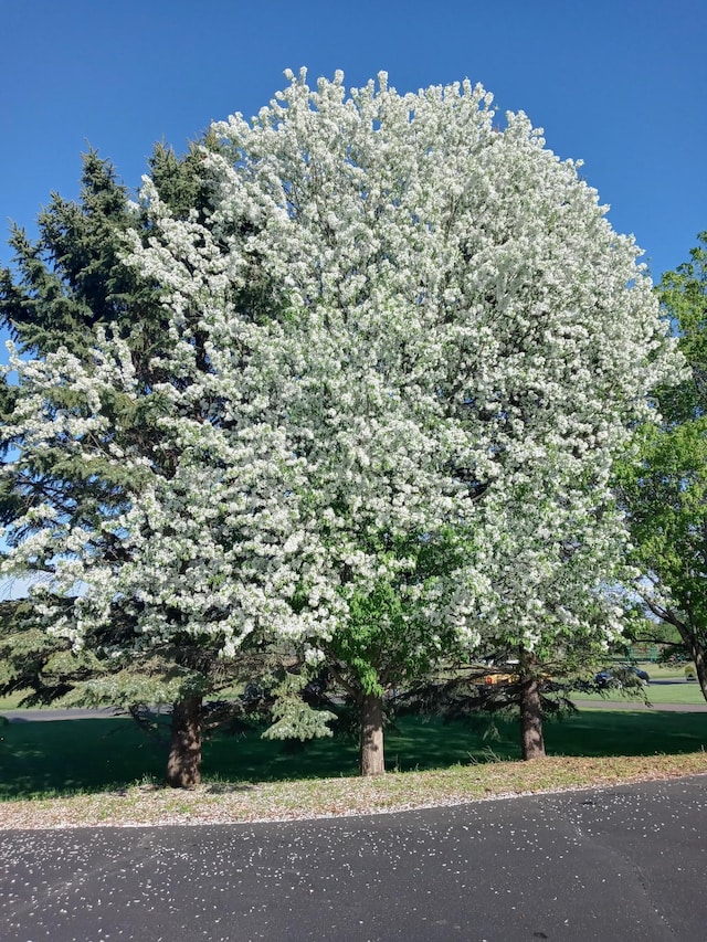
[[[373,817],[4,832],[3,942],[704,942],[707,776]]]

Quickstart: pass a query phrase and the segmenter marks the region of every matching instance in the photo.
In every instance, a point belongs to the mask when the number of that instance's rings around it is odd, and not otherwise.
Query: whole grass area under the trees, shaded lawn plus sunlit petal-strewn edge
[[[0,828],[295,819],[707,774],[707,715],[582,711],[548,723],[550,758],[518,759],[517,724],[401,721],[391,774],[354,776],[345,740],[283,749],[256,732],[204,750],[204,785],[156,787],[163,749],[129,720],[11,723],[0,742]],[[140,784],[141,782],[141,784]]]

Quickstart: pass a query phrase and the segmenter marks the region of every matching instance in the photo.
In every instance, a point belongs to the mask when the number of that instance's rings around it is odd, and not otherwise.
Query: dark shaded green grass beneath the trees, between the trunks
[[[707,713],[587,710],[546,723],[552,755],[654,755],[707,748]],[[0,800],[119,790],[159,782],[167,745],[129,719],[10,723],[0,740]],[[517,760],[518,723],[484,718],[453,723],[404,718],[386,735],[387,766],[401,772]],[[253,730],[217,735],[203,750],[204,780],[214,791],[287,779],[357,773],[356,743],[342,738],[302,747],[271,742]]]

